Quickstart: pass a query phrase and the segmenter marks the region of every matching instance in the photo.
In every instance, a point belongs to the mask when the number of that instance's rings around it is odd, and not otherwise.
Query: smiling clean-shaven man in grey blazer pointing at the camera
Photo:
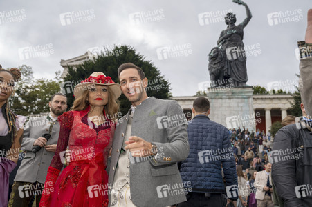
[[[109,169],[109,206],[172,206],[186,201],[178,161],[189,153],[187,120],[176,101],[147,97],[141,68],[118,68],[122,93],[132,103],[118,121]]]

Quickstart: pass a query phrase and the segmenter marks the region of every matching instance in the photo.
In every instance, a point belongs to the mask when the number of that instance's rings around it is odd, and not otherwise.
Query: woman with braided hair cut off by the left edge
[[[12,112],[8,101],[20,78],[19,69],[6,70],[0,66],[0,206],[8,204],[9,175],[17,166],[26,121],[26,117]]]

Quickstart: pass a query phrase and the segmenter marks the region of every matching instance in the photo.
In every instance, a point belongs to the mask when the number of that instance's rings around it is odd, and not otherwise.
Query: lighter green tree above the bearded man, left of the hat
[[[17,115],[39,114],[48,112],[48,101],[59,92],[59,81],[53,79],[35,79],[30,66],[19,66],[21,80],[15,86],[15,95],[10,97],[12,110]],[[56,72],[56,79],[59,72]]]

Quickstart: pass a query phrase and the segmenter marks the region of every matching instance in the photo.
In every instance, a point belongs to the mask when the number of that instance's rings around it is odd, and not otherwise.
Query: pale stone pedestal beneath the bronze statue
[[[211,112],[208,117],[227,128],[241,129],[243,126],[251,132],[257,125],[257,115],[253,110],[253,89],[241,88],[207,88]]]

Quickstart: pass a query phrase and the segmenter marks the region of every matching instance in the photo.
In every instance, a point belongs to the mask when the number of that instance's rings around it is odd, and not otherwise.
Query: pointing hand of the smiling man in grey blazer
[[[152,143],[145,141],[140,137],[131,136],[128,141],[125,141],[125,144],[127,144],[125,149],[130,150],[133,157],[146,157],[152,155]]]

